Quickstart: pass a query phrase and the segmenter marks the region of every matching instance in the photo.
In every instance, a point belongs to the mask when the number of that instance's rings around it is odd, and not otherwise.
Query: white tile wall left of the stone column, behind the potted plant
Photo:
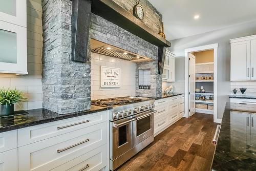
[[[16,88],[23,91],[28,102],[22,103],[22,109],[42,107],[41,87],[41,54],[42,54],[42,21],[41,1],[27,0],[27,45],[28,72],[26,76],[0,73],[0,88]],[[20,109],[15,106],[16,110]]]

